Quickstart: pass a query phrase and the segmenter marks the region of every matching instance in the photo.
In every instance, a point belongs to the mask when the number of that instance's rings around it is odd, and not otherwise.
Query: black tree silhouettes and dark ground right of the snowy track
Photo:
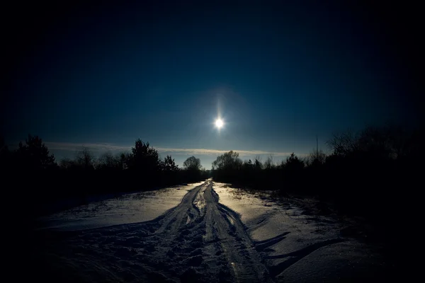
[[[280,163],[242,161],[229,151],[212,163],[212,177],[254,190],[276,190],[283,196],[316,197],[339,212],[390,224],[405,192],[416,190],[424,162],[423,129],[397,125],[365,127],[334,134],[329,154],[314,149],[305,157],[290,154]],[[404,193],[403,193],[404,192]]]

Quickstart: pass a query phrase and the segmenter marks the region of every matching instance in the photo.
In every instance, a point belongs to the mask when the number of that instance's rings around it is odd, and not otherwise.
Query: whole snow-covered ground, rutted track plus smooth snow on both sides
[[[385,262],[346,225],[207,180],[43,217],[35,254],[62,282],[375,281]]]

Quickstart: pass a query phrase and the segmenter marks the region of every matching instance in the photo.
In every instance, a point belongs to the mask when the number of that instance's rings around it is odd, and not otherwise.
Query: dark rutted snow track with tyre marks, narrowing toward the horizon
[[[273,277],[320,247],[267,256],[266,248],[283,241],[289,232],[251,241],[239,215],[218,200],[208,180],[157,219],[55,233],[45,253],[55,255],[55,265],[65,268],[60,276],[77,272],[81,282],[108,278],[113,282],[273,282]],[[61,264],[58,258],[67,260]],[[273,258],[290,260],[267,268],[264,262]]]

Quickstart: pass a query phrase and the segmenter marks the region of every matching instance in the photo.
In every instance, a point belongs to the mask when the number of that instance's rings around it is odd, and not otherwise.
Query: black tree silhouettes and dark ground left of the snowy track
[[[48,212],[45,204],[69,197],[84,200],[89,195],[116,195],[208,178],[199,158],[187,158],[181,169],[174,158],[160,158],[157,149],[140,139],[130,152],[96,157],[83,147],[73,159],[57,163],[38,136],[28,135],[25,144],[20,142],[15,150],[8,149],[1,138],[0,170],[2,183],[10,186],[6,190],[22,195],[28,200],[26,206],[37,214]]]

